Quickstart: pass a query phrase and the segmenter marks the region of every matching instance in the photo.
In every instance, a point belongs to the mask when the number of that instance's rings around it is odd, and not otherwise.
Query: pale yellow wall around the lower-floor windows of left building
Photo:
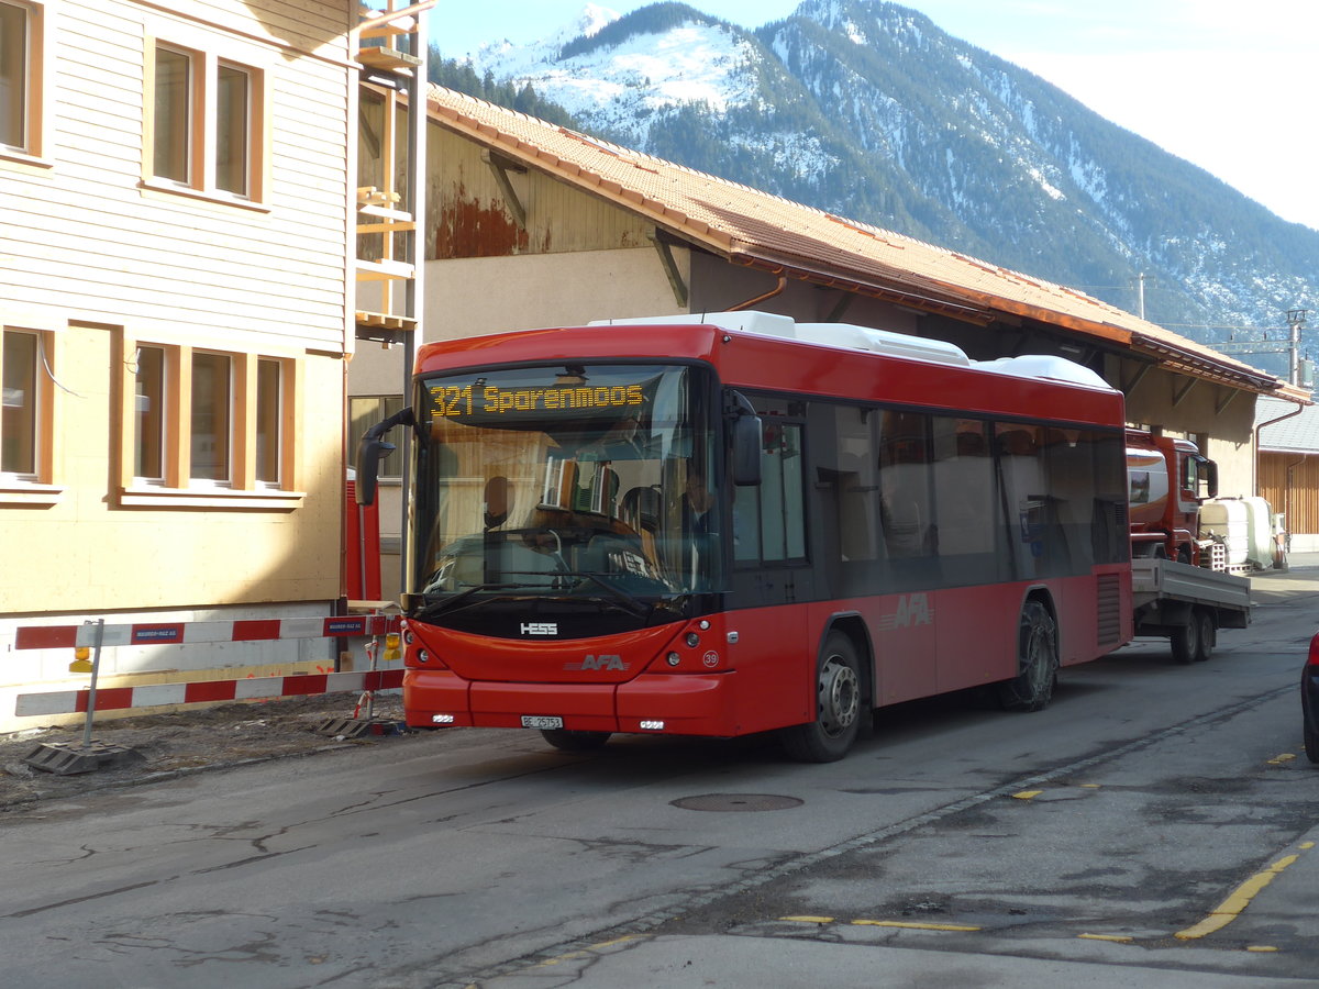
[[[330,600],[339,592],[342,363],[307,356],[290,510],[120,508],[113,331],[53,334],[51,506],[0,505],[0,614]],[[63,390],[63,389],[67,389]]]

